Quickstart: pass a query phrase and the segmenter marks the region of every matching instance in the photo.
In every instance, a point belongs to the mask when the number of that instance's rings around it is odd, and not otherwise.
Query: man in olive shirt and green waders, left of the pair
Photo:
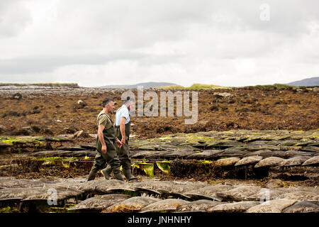
[[[116,143],[121,145],[121,141],[116,138],[116,131],[113,126],[113,122],[109,114],[114,111],[114,100],[105,99],[103,101],[103,110],[97,117],[98,136],[96,138],[96,150],[97,154],[95,156],[94,165],[89,173],[88,181],[95,179],[96,172],[101,170],[102,174],[105,175],[106,169],[103,169],[105,164],[113,171],[116,179],[123,180],[120,171],[120,160],[116,155]],[[116,142],[116,143],[115,143]],[[103,170],[102,170],[103,169]]]

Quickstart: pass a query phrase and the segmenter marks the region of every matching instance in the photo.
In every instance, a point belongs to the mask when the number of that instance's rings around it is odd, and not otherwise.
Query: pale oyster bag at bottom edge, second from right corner
[[[296,202],[297,200],[294,199],[269,200],[257,206],[252,206],[246,213],[281,213],[283,209],[286,209]]]

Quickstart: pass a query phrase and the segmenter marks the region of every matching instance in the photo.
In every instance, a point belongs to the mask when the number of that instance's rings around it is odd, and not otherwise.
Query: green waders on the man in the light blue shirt
[[[116,137],[119,140],[122,140],[122,134],[120,130],[120,126],[115,126],[116,131]],[[125,144],[118,148],[116,146],[116,153],[118,154],[118,157],[120,159],[122,168],[123,168],[123,174],[125,178],[129,181],[132,179],[138,179],[140,177],[133,177],[132,171],[130,169],[130,146],[128,145],[128,140],[130,138],[130,122],[125,124]],[[109,175],[111,173],[111,167],[106,167],[106,175]]]

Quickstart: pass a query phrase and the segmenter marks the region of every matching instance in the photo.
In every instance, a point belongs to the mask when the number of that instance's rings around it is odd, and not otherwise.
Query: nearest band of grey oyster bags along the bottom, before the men
[[[0,203],[11,212],[318,212],[318,189],[260,187],[254,182],[51,181],[0,177]],[[54,194],[53,194],[54,193]],[[4,205],[5,204],[5,205]]]

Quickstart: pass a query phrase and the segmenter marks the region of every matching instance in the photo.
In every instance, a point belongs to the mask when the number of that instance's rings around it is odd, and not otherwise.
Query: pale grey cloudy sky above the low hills
[[[0,82],[245,86],[318,62],[318,0],[0,0]]]

